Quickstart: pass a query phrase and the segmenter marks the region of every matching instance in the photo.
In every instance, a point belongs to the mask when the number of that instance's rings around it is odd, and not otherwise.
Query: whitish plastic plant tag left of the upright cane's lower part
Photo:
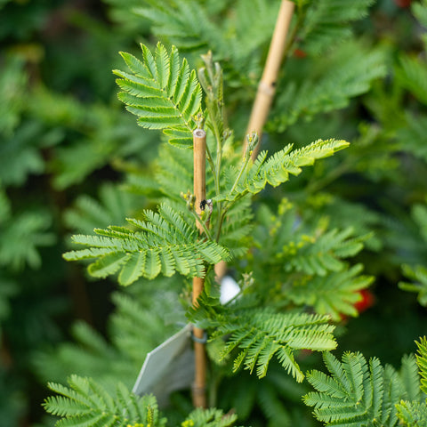
[[[194,379],[191,329],[190,324],[184,326],[149,352],[133,386],[134,394],[152,393],[159,406],[164,406],[172,391],[190,386]]]

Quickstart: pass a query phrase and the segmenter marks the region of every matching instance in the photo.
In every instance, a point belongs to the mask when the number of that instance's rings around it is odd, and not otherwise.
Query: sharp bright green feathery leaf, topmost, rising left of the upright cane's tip
[[[138,124],[149,129],[163,129],[169,142],[191,147],[194,117],[201,109],[202,91],[195,70],[180,58],[176,47],[168,53],[157,44],[154,55],[141,44],[142,60],[121,52],[131,73],[114,70],[121,78],[117,85],[124,91],[120,101],[138,117]]]

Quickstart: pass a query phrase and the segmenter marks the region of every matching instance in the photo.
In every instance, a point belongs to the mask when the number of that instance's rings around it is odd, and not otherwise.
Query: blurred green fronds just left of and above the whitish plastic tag
[[[120,378],[131,387],[149,351],[176,332],[174,322],[185,320],[176,308],[179,286],[176,278],[140,279],[126,288],[126,293],[115,292],[108,339],[86,323],[77,322],[71,328],[74,342],[37,351],[33,363],[38,375],[43,381],[55,382],[71,374],[91,375],[110,391]]]

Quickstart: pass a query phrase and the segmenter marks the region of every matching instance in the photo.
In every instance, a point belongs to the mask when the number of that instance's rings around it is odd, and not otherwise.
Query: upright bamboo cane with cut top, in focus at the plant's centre
[[[206,198],[205,187],[205,151],[206,133],[202,129],[196,129],[193,133],[194,144],[194,195],[196,197],[196,214],[201,214],[200,203]],[[197,229],[203,232],[202,226],[197,222]],[[203,291],[203,278],[193,278],[193,305],[197,306],[197,298]],[[203,339],[205,331],[198,327],[193,328],[194,355],[195,355],[195,378],[193,383],[193,406],[206,407],[206,354]]]

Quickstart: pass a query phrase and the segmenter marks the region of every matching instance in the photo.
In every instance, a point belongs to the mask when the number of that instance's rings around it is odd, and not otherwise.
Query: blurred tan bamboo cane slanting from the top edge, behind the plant
[[[269,116],[271,103],[276,93],[276,81],[278,79],[278,70],[283,60],[283,55],[286,47],[286,36],[294,13],[294,3],[289,0],[282,0],[280,10],[278,11],[278,20],[271,38],[270,49],[265,62],[261,81],[258,85],[258,91],[252,108],[249,125],[246,129],[246,134],[258,133],[258,145],[252,153],[252,159],[258,156],[260,150],[262,128]],[[246,152],[246,139],[245,149]]]

